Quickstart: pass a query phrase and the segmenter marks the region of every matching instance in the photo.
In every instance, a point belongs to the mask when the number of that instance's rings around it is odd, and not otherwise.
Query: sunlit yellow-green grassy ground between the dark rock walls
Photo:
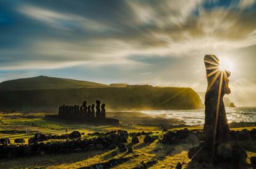
[[[112,131],[112,130],[127,130],[129,133],[152,131],[156,136],[161,138],[163,131],[154,126],[139,126],[139,125],[121,125],[121,126],[87,126],[84,124],[74,124],[60,121],[52,121],[43,116],[46,113],[0,113],[0,131],[10,131],[9,134],[3,134],[0,132],[0,138],[10,138],[13,142],[15,138],[30,138],[35,133],[45,134],[61,134],[68,133],[74,130],[79,130],[81,133],[93,133],[95,131]],[[183,127],[184,128],[184,127]],[[187,127],[186,127],[187,128]],[[202,130],[202,126],[190,126],[189,130]],[[253,127],[247,127],[251,130]],[[182,128],[173,128],[171,130],[180,130]],[[234,128],[233,130],[243,130],[244,128]],[[11,133],[11,130],[19,131],[20,133]],[[25,132],[27,130],[27,133]],[[23,133],[22,133],[23,132]],[[78,152],[72,154],[51,154],[34,157],[24,157],[19,159],[1,160],[0,168],[80,168],[93,165],[95,163],[107,162],[110,159],[117,157],[133,157],[128,162],[121,163],[114,168],[132,168],[140,165],[142,162],[148,162],[153,159],[157,159],[158,163],[150,168],[175,168],[178,162],[184,163],[183,168],[216,168],[211,165],[193,166],[189,165],[189,159],[187,157],[187,150],[192,147],[191,144],[181,144],[175,146],[168,146],[161,144],[156,140],[151,144],[143,143],[143,138],[140,136],[139,144],[130,144],[131,138],[129,138],[127,147],[132,146],[134,152],[129,154],[127,152],[119,153],[113,157],[111,152],[113,150],[93,150],[90,152]],[[241,142],[241,145],[248,147],[248,159],[249,157],[256,155],[255,142]],[[134,156],[137,155],[137,156]],[[218,168],[218,167],[217,167]],[[228,167],[226,167],[228,168]]]

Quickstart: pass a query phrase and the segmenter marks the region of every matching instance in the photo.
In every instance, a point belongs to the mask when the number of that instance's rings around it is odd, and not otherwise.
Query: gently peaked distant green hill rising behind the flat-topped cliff
[[[29,89],[77,89],[77,88],[105,88],[108,85],[90,81],[36,76],[20,78],[0,83],[0,90],[29,90]]]

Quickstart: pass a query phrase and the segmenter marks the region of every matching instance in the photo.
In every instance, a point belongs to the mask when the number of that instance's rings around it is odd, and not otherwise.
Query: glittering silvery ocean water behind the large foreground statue
[[[161,115],[164,118],[177,118],[186,125],[203,125],[205,109],[195,110],[147,110],[140,111],[148,115]],[[230,122],[256,122],[256,107],[226,107],[228,123]]]

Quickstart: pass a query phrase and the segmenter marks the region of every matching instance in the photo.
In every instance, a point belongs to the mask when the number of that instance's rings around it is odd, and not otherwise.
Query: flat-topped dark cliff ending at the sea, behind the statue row
[[[127,88],[30,89],[0,91],[0,109],[58,110],[62,104],[95,104],[100,99],[106,110],[200,109],[203,104],[191,88]]]

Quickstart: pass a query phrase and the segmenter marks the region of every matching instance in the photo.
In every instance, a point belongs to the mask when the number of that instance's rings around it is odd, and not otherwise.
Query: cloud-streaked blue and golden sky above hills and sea
[[[233,63],[229,99],[256,106],[256,2],[3,1],[0,81],[46,75],[206,91],[203,57]]]

